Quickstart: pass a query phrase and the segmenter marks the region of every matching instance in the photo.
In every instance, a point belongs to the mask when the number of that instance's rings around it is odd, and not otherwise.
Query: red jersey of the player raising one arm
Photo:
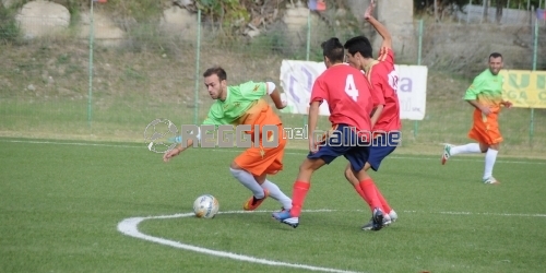
[[[395,131],[402,128],[400,122],[400,103],[396,94],[399,74],[394,69],[394,52],[390,48],[381,48],[379,58],[366,72],[373,91],[384,99],[384,107],[373,131]]]

